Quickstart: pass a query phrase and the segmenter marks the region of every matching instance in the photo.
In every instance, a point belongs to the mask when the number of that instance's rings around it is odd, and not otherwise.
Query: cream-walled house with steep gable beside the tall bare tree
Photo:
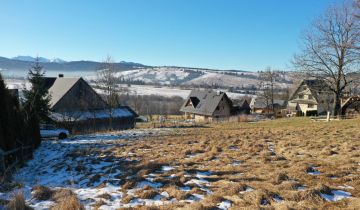
[[[311,116],[333,111],[334,94],[326,82],[318,79],[303,80],[289,98],[291,115]]]

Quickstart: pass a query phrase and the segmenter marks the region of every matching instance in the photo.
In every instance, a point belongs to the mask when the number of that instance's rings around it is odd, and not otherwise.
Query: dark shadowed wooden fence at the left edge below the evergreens
[[[0,175],[12,172],[12,169],[32,156],[33,146],[24,146],[9,151],[0,149]]]

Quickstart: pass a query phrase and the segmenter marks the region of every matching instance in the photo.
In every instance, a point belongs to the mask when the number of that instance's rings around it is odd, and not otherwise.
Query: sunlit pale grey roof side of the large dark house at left
[[[50,108],[54,107],[64,95],[80,80],[81,78],[56,78],[53,85],[49,88],[51,95]]]

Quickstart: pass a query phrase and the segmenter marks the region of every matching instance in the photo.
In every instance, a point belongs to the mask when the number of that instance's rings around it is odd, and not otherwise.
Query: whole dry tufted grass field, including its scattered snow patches
[[[91,209],[114,209],[105,208],[114,203],[119,209],[360,209],[360,119],[291,118],[168,131],[69,150],[67,162],[77,165],[64,165],[66,171],[88,173],[90,192],[109,183],[114,190],[94,194],[91,202],[78,194],[80,201]],[[104,164],[94,175],[78,161],[82,157],[116,164]],[[58,190],[33,187],[32,196],[45,194],[58,203],[52,198]]]

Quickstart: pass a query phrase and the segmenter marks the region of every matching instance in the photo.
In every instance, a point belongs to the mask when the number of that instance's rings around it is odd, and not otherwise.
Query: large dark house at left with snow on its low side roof
[[[72,132],[134,128],[138,116],[131,108],[110,106],[83,78],[46,78],[51,96],[49,118]]]

